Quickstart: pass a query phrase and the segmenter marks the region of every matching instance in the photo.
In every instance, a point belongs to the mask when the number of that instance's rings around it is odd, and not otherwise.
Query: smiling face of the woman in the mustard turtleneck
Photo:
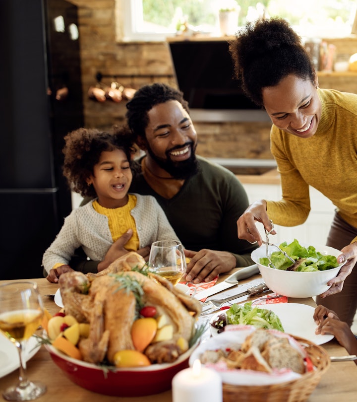
[[[321,101],[315,85],[290,74],[276,86],[263,88],[263,104],[272,123],[300,138],[312,137],[321,119]]]

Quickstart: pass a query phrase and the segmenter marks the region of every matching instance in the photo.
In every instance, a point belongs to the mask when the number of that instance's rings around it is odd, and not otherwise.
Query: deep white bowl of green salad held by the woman
[[[300,244],[304,247],[310,246],[310,244]],[[274,269],[259,263],[261,258],[266,257],[265,247],[266,246],[263,244],[261,247],[255,249],[251,253],[251,259],[258,265],[260,273],[269,289],[283,296],[302,299],[318,296],[326,292],[326,290],[330,288],[327,283],[337,276],[341,267],[345,264],[343,263],[336,268],[327,269],[325,271],[315,272],[295,272]],[[324,255],[338,257],[342,254],[340,250],[334,249],[333,247],[314,245],[313,247],[315,247],[316,251]],[[268,247],[269,255],[274,251],[277,251],[276,247]]]

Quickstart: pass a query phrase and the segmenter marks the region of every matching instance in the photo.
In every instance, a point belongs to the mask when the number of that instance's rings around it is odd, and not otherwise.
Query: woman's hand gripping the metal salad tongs
[[[239,239],[247,240],[250,243],[258,242],[259,246],[262,245],[262,238],[255,222],[261,222],[268,232],[272,229],[266,207],[265,200],[255,201],[248,206],[237,221]],[[276,231],[272,230],[271,234],[276,234]]]

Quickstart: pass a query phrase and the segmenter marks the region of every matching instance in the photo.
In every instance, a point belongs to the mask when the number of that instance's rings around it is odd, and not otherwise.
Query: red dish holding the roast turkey
[[[189,356],[195,349],[192,346],[174,363],[107,369],[68,357],[51,345],[45,346],[52,360],[73,383],[98,394],[116,397],[142,397],[170,390],[173,377],[188,367]]]

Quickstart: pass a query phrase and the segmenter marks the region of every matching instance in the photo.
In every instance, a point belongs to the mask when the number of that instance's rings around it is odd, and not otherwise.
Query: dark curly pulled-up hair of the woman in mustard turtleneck
[[[248,23],[229,43],[235,73],[244,93],[263,106],[262,89],[289,74],[314,83],[315,70],[301,38],[282,18]]]

